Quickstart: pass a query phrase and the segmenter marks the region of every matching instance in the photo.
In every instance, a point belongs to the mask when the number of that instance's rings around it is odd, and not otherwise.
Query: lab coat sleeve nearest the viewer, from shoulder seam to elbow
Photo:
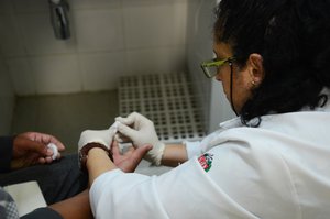
[[[219,188],[197,157],[161,176],[105,173],[91,186],[90,204],[97,219],[254,218]]]

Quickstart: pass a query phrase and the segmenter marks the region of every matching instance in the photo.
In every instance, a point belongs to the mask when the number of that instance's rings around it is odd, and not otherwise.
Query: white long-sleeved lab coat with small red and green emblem
[[[92,212],[101,219],[328,219],[329,130],[330,105],[265,116],[258,128],[228,121],[200,143],[187,142],[190,160],[161,176],[119,169],[99,176],[90,189]],[[205,152],[212,157],[207,164]]]

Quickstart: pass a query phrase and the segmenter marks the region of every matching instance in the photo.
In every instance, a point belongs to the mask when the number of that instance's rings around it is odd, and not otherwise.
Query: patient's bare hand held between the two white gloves
[[[138,149],[131,146],[124,154],[121,154],[117,141],[113,141],[111,146],[114,165],[125,173],[134,172],[143,156],[150,150],[152,150],[152,145],[145,144]]]

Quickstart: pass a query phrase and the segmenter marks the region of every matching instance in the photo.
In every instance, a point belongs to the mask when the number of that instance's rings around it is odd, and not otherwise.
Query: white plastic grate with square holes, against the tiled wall
[[[166,143],[199,140],[205,130],[191,89],[185,73],[124,76],[119,85],[119,112],[147,117]]]

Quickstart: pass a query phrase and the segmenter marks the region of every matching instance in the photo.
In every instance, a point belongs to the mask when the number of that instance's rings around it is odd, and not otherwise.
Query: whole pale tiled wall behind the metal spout
[[[47,0],[0,0],[0,50],[15,94],[116,89],[120,75],[186,69],[189,0],[68,0],[56,40]]]

